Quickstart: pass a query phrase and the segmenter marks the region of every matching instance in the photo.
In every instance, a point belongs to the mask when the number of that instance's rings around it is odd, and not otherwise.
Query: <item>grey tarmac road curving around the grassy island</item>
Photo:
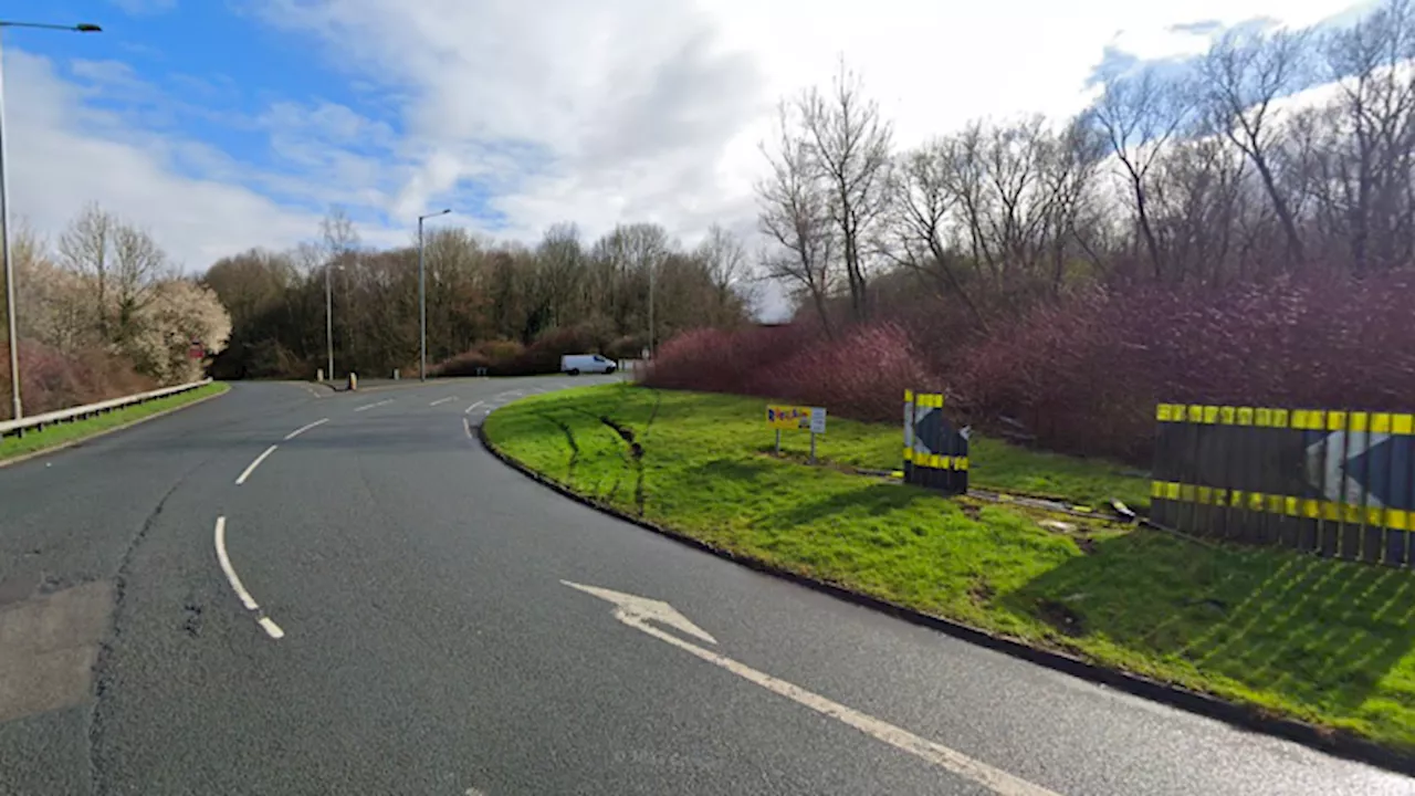
[[[586,381],[236,384],[0,469],[0,793],[1415,793],[657,537],[468,433]]]

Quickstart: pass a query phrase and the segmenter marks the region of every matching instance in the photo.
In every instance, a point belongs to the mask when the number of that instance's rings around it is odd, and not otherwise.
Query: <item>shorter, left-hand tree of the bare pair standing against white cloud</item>
[[[761,147],[770,176],[756,186],[757,222],[770,241],[761,266],[767,276],[808,299],[829,334],[826,299],[835,254],[831,197],[816,180],[811,144],[797,132],[791,108],[781,105],[778,113],[778,139],[774,147]]]

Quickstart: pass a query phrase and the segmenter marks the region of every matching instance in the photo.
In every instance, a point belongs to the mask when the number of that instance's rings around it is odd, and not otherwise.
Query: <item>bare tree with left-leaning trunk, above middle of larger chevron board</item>
[[[1214,42],[1200,68],[1207,86],[1207,109],[1217,127],[1252,161],[1296,265],[1306,255],[1296,214],[1272,163],[1279,135],[1274,101],[1300,88],[1306,74],[1306,44],[1303,31],[1230,33]]]

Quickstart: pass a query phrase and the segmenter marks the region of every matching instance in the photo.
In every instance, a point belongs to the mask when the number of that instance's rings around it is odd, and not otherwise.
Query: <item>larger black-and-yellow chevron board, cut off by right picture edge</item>
[[[1415,415],[1160,404],[1150,518],[1200,537],[1408,567]]]

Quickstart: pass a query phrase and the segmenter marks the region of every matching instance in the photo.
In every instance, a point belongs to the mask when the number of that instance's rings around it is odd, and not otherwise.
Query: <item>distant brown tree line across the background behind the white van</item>
[[[720,227],[691,249],[657,224],[593,241],[558,224],[533,246],[439,227],[424,232],[423,255],[430,364],[488,341],[531,346],[556,334],[633,357],[682,329],[749,317],[746,248]],[[337,374],[416,370],[417,248],[365,248],[340,210],[318,242],[224,258],[202,283],[232,316],[218,375],[313,377],[328,356],[330,320]]]

